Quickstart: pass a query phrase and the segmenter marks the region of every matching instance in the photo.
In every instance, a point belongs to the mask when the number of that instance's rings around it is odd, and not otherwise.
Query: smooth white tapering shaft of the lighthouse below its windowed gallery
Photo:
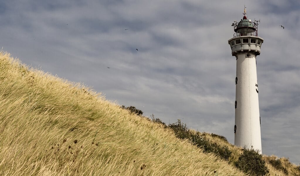
[[[236,108],[234,145],[261,148],[256,56],[238,54],[236,60]]]

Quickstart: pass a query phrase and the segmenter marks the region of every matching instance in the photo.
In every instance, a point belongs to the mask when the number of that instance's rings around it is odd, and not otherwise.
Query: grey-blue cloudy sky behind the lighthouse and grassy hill
[[[264,39],[262,153],[299,164],[298,0],[1,0],[0,47],[145,116],[182,119],[234,143],[236,60],[228,40],[244,5]]]

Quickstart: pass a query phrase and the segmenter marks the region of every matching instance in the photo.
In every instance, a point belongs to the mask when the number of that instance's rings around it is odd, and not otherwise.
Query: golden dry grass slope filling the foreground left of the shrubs
[[[0,175],[244,175],[85,86],[0,67]]]

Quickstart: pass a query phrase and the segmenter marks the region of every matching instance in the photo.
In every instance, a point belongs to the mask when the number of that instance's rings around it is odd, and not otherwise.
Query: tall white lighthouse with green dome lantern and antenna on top
[[[257,36],[257,22],[247,19],[246,8],[240,22],[232,23],[235,34],[228,40],[236,57],[234,145],[258,149],[262,153],[256,56],[263,39]]]

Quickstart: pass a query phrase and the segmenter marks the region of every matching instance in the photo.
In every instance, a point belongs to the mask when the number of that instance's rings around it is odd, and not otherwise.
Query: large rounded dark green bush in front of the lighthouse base
[[[243,153],[235,162],[235,167],[240,169],[246,174],[262,176],[269,173],[268,168],[265,166],[265,161],[262,160],[262,155],[258,150],[243,149]]]

